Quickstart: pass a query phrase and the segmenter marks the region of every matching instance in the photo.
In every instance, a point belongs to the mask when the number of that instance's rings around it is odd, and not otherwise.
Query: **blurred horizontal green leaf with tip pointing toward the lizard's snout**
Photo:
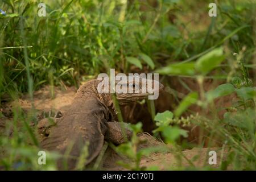
[[[160,75],[195,75],[195,63],[174,63],[167,67],[156,69]]]

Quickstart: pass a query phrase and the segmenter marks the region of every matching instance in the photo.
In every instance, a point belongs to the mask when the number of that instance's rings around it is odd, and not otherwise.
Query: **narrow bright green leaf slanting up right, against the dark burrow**
[[[189,106],[192,104],[195,104],[198,99],[198,94],[196,92],[191,92],[189,93],[183,101],[180,102],[179,106],[177,109],[174,111],[174,114],[176,117],[180,117],[180,115],[187,110]]]

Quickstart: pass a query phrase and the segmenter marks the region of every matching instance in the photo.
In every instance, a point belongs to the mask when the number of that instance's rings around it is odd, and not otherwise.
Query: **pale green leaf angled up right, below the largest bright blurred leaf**
[[[235,91],[235,88],[232,84],[222,84],[219,85],[216,89],[210,90],[207,94],[207,101],[211,102],[215,98],[221,97],[221,96],[227,96],[229,94],[232,94]]]

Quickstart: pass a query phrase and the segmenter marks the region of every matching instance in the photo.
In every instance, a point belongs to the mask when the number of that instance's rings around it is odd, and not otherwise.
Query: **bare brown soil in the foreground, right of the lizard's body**
[[[156,140],[154,137],[147,133],[139,135],[139,139],[144,140],[144,143],[139,144],[138,150],[142,150],[150,147],[171,147],[167,146],[163,142]],[[172,150],[171,150],[172,151]],[[221,148],[192,148],[191,150],[180,151],[184,158],[180,158],[180,153],[174,151],[159,151],[152,152],[148,156],[143,156],[139,166],[143,169],[158,169],[158,170],[175,170],[175,169],[189,169],[194,165],[195,167],[205,168],[218,168],[221,161]],[[217,163],[210,165],[208,160],[210,158],[209,151],[216,151]],[[224,153],[226,150],[224,150]],[[190,164],[188,160],[192,160],[193,164]],[[225,155],[222,160],[225,160]],[[118,162],[123,162],[126,165],[129,164],[130,169],[134,169],[135,161],[127,158],[127,156],[118,155],[108,147],[105,152],[104,160],[101,166],[103,170],[127,170],[127,168],[118,165]]]

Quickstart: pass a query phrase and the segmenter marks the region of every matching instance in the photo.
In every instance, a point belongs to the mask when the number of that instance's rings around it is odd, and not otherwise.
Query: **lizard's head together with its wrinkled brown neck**
[[[144,98],[156,100],[159,92],[164,88],[159,81],[141,76],[117,76],[113,83],[115,95],[120,105],[127,105]],[[103,101],[106,106],[112,107],[113,101],[109,88],[112,88],[112,85],[108,77],[91,80],[80,86],[76,97],[95,97]]]

